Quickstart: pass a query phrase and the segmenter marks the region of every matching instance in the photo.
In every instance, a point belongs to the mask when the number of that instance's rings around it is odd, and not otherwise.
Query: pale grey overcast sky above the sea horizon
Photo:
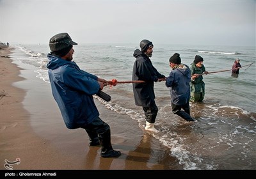
[[[256,1],[3,1],[1,42],[255,46]]]

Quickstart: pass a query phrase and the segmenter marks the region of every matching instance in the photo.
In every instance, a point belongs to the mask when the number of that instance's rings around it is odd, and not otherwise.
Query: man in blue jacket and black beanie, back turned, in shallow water
[[[186,121],[195,121],[190,116],[189,107],[191,70],[188,65],[181,63],[178,53],[171,56],[169,63],[172,71],[169,77],[166,77],[165,85],[170,88],[172,112]]]

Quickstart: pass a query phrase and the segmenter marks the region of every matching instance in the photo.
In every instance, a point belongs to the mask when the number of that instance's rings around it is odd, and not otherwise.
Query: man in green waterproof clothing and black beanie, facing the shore
[[[190,81],[190,101],[202,102],[205,95],[205,84],[203,81],[203,73],[208,74],[205,71],[203,65],[204,59],[201,56],[196,55],[195,60],[191,63],[191,81]]]

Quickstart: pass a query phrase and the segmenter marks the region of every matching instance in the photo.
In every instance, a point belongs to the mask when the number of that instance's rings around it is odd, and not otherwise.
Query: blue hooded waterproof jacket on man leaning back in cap
[[[99,117],[93,96],[100,85],[98,77],[84,72],[74,61],[47,55],[52,95],[60,107],[67,128],[79,128]]]

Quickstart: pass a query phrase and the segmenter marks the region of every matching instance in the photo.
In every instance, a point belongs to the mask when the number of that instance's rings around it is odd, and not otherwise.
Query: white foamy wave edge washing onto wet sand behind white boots
[[[120,104],[105,102],[102,98],[97,97],[97,95],[93,95],[93,97],[97,98],[97,100],[104,104],[107,109],[115,111],[115,113],[118,114],[126,114],[132,118],[132,120],[138,121],[141,130],[145,127],[145,116],[143,113],[138,113],[137,111],[126,108]],[[174,123],[175,122],[173,122],[173,124]],[[161,128],[160,134],[152,134],[152,136],[158,139],[164,146],[170,148],[172,156],[179,160],[179,164],[184,166],[184,169],[216,169],[216,166],[212,163],[204,162],[204,159],[202,159],[200,155],[189,151],[186,144],[184,144],[185,138],[183,135],[180,135],[175,131],[170,132],[170,128],[161,124],[160,121],[156,121],[156,125],[162,126],[163,128]]]

